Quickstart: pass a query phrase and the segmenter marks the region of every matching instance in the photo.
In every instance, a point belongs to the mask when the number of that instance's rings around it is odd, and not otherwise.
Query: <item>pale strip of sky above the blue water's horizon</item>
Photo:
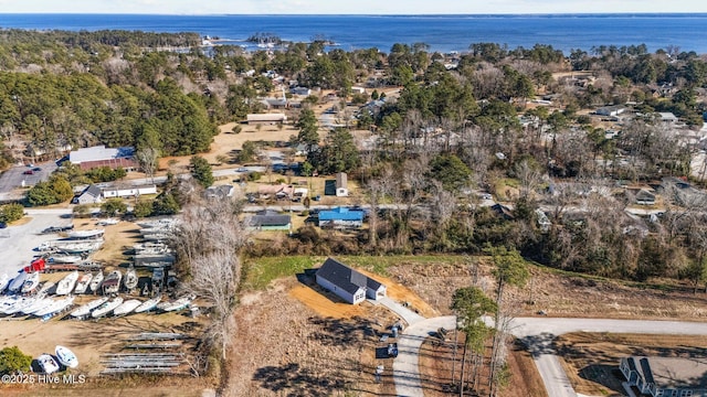
[[[507,14],[707,12],[705,0],[0,0],[0,13]]]

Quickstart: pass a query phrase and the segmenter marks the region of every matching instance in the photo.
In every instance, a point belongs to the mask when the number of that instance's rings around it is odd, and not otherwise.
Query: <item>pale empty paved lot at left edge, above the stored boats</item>
[[[0,273],[14,275],[38,254],[34,247],[57,238],[55,234],[42,235],[43,229],[72,222],[70,210],[28,210],[27,219],[23,225],[0,229]]]

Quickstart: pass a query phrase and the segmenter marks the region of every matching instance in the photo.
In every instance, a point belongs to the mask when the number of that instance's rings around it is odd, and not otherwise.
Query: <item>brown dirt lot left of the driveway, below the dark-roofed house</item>
[[[374,357],[376,347],[384,346],[379,334],[394,318],[370,303],[339,311],[319,297],[319,310],[330,309],[325,316],[300,301],[310,296],[305,288],[281,279],[241,299],[226,395],[394,395],[392,358]],[[377,365],[386,368],[381,383]]]

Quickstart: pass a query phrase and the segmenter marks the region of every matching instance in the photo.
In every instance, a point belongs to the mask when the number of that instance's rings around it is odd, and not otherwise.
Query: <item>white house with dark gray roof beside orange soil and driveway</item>
[[[325,260],[315,277],[319,286],[351,304],[386,297],[386,286],[333,258]]]

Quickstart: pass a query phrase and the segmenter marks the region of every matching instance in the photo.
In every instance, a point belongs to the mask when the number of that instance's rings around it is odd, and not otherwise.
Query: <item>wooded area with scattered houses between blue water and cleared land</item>
[[[694,52],[635,45],[562,54],[545,44],[495,43],[474,43],[464,54],[430,53],[423,43],[395,44],[389,53],[325,52],[315,41],[245,53],[200,47],[193,33],[2,30],[0,36],[0,165],[28,152],[56,159],[66,147],[98,143],[158,155],[203,152],[217,125],[264,109],[258,99],[287,81],[336,89],[341,109],[349,98],[377,103],[321,141],[308,110],[321,98],[287,109],[300,129],[294,142],[308,148],[304,169],[357,178],[372,210],[370,228],[347,240],[305,228],[299,239],[250,247],[252,255],[474,254],[490,243],[606,277],[689,278],[697,286],[707,275],[705,195],[662,181],[689,176],[703,148],[655,116],[672,111],[685,131],[701,127],[707,63]],[[354,85],[373,94],[351,96]],[[381,100],[378,89],[390,86],[401,87],[399,97]],[[545,95],[552,107],[534,103]],[[609,137],[590,112],[620,104],[632,104],[635,117]],[[376,132],[372,146],[357,147],[357,128]],[[155,155],[141,162],[155,172]],[[60,178],[49,184],[63,186]],[[623,208],[634,197],[616,189],[621,181],[657,181],[667,210],[655,222],[627,217]],[[469,192],[479,190],[507,207],[476,205]],[[163,208],[154,214],[178,208],[178,194],[160,197]],[[381,203],[402,205],[379,211]],[[538,210],[549,226],[539,225]]]

